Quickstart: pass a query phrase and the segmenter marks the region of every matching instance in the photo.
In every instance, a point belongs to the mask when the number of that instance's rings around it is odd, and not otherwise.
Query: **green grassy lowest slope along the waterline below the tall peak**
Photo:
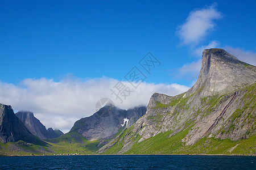
[[[141,137],[135,135],[133,147],[123,154],[225,154],[225,155],[255,155],[256,137],[251,136],[247,139],[233,142],[230,139],[214,139],[213,137],[204,137],[200,139],[195,145],[185,146],[185,142],[181,140],[188,134],[189,129],[180,131],[172,135],[171,131],[160,133],[154,137],[148,138],[138,143]],[[120,138],[130,133],[129,130],[124,131]],[[107,150],[104,154],[115,154],[123,147],[122,141],[118,141],[113,147]]]

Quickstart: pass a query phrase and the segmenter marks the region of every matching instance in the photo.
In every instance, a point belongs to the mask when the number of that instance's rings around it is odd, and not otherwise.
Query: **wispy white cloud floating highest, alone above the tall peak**
[[[221,13],[215,7],[216,3],[190,12],[185,23],[180,25],[176,32],[182,44],[196,45],[209,31],[213,30],[215,26],[213,21],[222,18]]]

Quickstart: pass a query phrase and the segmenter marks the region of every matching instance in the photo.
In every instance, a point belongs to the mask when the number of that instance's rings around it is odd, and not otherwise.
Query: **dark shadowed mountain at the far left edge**
[[[38,137],[35,137],[15,116],[10,105],[0,104],[0,142],[24,141],[36,145],[46,145]]]

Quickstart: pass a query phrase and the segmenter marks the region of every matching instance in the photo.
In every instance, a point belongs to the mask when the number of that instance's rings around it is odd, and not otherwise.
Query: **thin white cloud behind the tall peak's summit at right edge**
[[[233,48],[231,46],[227,46],[225,49],[227,52],[237,57],[241,61],[256,66],[256,53],[252,52],[251,50],[244,51],[240,48]]]

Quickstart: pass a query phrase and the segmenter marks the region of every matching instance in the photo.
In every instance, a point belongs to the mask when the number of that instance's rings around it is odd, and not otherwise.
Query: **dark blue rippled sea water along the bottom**
[[[0,157],[0,169],[256,169],[255,156],[77,155]]]

